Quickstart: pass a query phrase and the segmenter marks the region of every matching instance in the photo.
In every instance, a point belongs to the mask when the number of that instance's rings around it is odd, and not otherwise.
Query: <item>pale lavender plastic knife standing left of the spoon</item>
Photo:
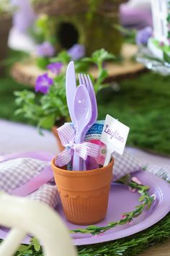
[[[74,100],[75,93],[76,93],[76,74],[75,74],[73,61],[71,61],[68,64],[68,67],[66,70],[66,98],[67,98],[68,111],[71,117],[71,121],[73,122],[73,125],[76,124],[76,120],[73,114],[73,100]]]

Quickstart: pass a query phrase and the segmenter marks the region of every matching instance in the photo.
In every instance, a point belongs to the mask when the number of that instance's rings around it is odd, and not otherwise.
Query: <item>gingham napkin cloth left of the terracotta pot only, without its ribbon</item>
[[[12,193],[14,189],[21,187],[41,173],[50,165],[47,161],[35,158],[15,158],[0,163],[0,190]],[[35,192],[27,196],[32,200],[45,202],[51,208],[59,202],[57,187],[53,180],[43,184]]]

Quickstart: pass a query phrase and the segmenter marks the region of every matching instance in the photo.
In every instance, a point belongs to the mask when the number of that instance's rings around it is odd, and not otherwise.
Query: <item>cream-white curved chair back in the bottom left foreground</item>
[[[40,239],[45,256],[76,256],[68,229],[48,205],[0,194],[0,225],[12,228],[0,244],[0,255],[12,256],[25,234]]]

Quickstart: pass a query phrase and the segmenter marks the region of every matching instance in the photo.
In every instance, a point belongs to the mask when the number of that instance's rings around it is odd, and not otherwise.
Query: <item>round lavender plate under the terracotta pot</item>
[[[96,244],[99,242],[107,242],[115,239],[120,239],[125,236],[143,231],[152,226],[156,222],[164,218],[170,210],[170,185],[158,176],[151,174],[147,171],[138,171],[134,174],[138,177],[140,182],[150,187],[149,194],[156,195],[156,200],[153,203],[150,210],[145,211],[141,216],[135,218],[130,224],[117,226],[115,229],[110,229],[99,236],[91,236],[90,234],[71,234],[73,244]],[[128,187],[122,184],[113,183],[109,193],[109,205],[107,210],[107,216],[104,221],[97,223],[97,226],[106,226],[110,221],[118,221],[121,218],[122,213],[135,209],[135,206],[139,204],[138,198],[140,195],[138,192],[132,193],[128,190]],[[77,229],[78,227],[72,223],[69,223],[64,214],[61,205],[56,208],[63,221],[68,226],[68,229]],[[6,229],[0,229],[0,238],[4,239],[7,234]],[[29,236],[27,236],[23,243],[29,243]]]

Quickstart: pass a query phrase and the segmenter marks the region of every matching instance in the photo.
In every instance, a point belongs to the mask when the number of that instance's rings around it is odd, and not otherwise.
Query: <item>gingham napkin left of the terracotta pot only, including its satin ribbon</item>
[[[59,195],[53,173],[50,171],[50,161],[36,158],[14,158],[1,161],[0,191],[27,196],[55,208],[59,202]]]

